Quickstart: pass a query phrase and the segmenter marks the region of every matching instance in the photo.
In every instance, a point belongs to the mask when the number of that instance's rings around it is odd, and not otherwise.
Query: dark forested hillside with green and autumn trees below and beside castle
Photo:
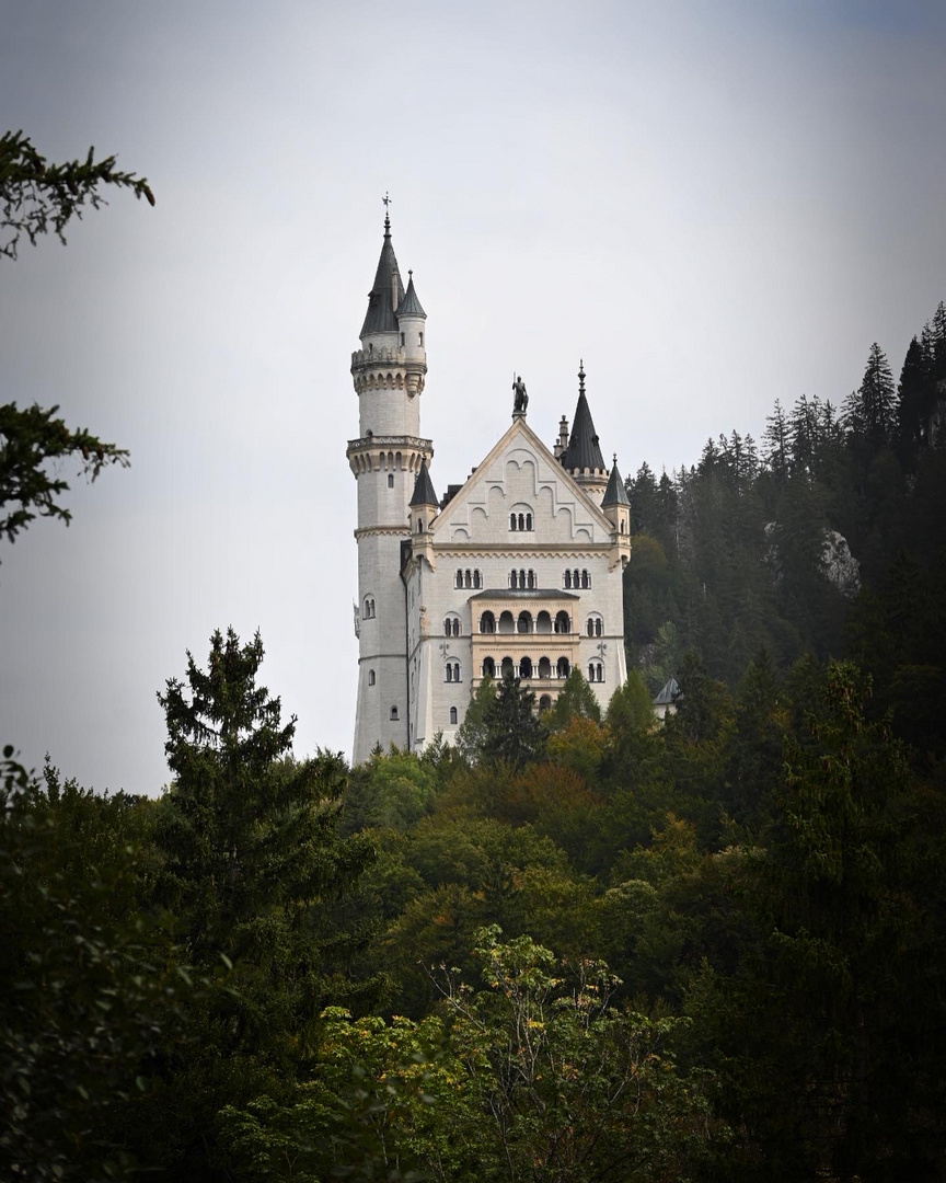
[[[642,467],[604,712],[300,759],[227,632],[160,797],[7,749],[0,1175],[946,1177],[944,424],[940,305],[899,384]]]

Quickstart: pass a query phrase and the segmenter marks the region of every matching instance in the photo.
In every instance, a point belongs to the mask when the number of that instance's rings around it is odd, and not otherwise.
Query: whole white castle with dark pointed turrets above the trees
[[[516,383],[512,425],[462,485],[438,498],[434,447],[420,433],[427,313],[404,291],[390,220],[362,348],[351,355],[358,439],[358,705],[356,764],[376,744],[451,742],[485,677],[511,671],[551,706],[578,666],[602,706],[627,678],[622,571],[629,506],[605,468],[579,369],[571,434],[550,450],[526,422]],[[616,459],[616,458],[615,458]]]

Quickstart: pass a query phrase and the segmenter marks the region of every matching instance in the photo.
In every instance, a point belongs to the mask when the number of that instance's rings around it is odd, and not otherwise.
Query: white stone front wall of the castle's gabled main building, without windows
[[[480,678],[479,661],[473,665],[472,635],[479,635],[481,592],[510,587],[510,573],[534,571],[537,589],[565,590],[566,569],[588,571],[590,588],[570,589],[576,600],[561,601],[572,616],[572,633],[581,639],[556,634],[530,634],[529,655],[538,664],[549,657],[552,664],[568,649],[588,677],[590,661],[601,661],[604,680],[592,689],[602,706],[627,679],[623,641],[622,567],[616,561],[610,523],[568,480],[561,466],[544,447],[537,447],[525,431],[512,431],[498,450],[469,478],[433,526],[434,563],[415,557],[408,590],[408,653],[413,680],[410,712],[412,746],[422,748],[438,731],[453,739],[464,720],[474,680]],[[510,513],[531,512],[532,531],[510,530]],[[419,550],[419,548],[415,548]],[[456,588],[458,569],[480,573],[479,588]],[[524,599],[511,599],[508,607],[518,616],[530,608]],[[602,619],[601,636],[587,635],[588,616]],[[447,635],[445,620],[456,615],[460,636]],[[533,613],[534,616],[534,613]],[[506,655],[503,634],[490,639],[499,666]],[[524,638],[516,635],[516,653]],[[601,646],[604,646],[602,654]],[[510,649],[513,646],[508,646]],[[479,646],[478,646],[479,648]],[[460,662],[460,683],[446,680],[447,661]],[[562,683],[533,679],[537,696],[553,698]],[[451,707],[458,723],[451,724]]]

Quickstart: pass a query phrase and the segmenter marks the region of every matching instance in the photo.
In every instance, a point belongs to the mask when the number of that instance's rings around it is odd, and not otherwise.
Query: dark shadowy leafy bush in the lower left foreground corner
[[[137,1177],[121,1126],[179,1041],[192,980],[137,905],[138,806],[5,750],[0,791],[0,1175]],[[221,967],[222,968],[222,967]]]

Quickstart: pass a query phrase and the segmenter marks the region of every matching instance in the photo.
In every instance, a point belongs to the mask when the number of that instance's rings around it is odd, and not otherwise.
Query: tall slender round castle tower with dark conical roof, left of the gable
[[[423,460],[420,395],[427,374],[427,313],[410,277],[407,291],[391,245],[390,219],[368,296],[362,348],[351,355],[359,437],[348,461],[358,483],[358,702],[354,762],[376,744],[408,744],[407,606],[402,543],[410,541],[409,502]]]

